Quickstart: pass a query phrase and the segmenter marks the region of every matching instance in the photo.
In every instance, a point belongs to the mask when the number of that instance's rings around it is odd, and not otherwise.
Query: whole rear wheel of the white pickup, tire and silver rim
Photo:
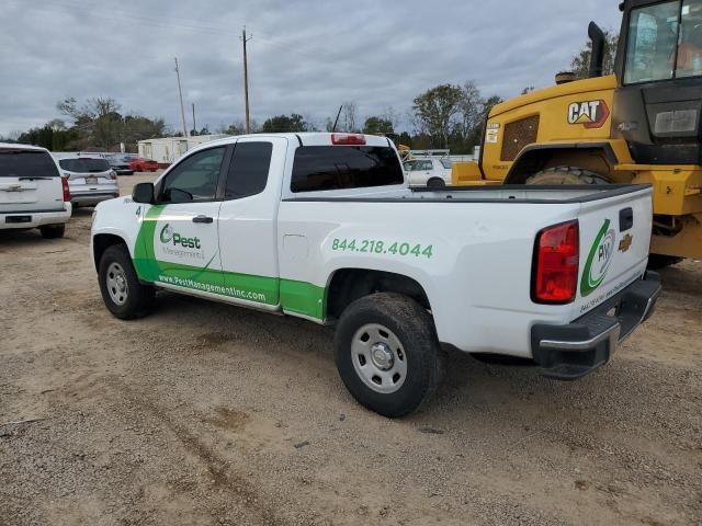
[[[431,316],[398,294],[374,294],[347,307],[337,324],[335,357],[359,403],[388,418],[417,411],[444,369]]]

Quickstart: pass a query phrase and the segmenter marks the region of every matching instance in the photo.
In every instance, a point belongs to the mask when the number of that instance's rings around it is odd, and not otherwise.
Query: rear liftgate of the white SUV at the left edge
[[[60,174],[45,150],[0,147],[0,214],[64,209]]]

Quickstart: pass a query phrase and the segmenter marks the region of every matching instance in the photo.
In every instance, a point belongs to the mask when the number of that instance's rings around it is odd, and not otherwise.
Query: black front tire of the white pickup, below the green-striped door
[[[109,282],[109,278],[115,278],[114,270],[116,267],[113,265],[117,265],[121,268],[121,277],[125,285],[125,289],[122,290],[123,294],[116,299],[115,295],[118,291],[116,288],[111,287]],[[115,244],[104,251],[100,259],[98,281],[105,307],[116,318],[132,320],[144,317],[154,309],[156,290],[154,287],[139,283],[132,264],[129,251],[124,244]]]

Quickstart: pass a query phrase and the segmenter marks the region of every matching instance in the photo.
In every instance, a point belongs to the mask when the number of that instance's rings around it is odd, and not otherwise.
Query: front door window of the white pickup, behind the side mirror
[[[213,201],[226,148],[210,148],[181,161],[166,175],[161,203]]]

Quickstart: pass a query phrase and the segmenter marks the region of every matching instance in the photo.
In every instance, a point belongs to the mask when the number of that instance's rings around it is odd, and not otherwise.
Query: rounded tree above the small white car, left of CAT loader
[[[463,101],[464,92],[460,85],[441,84],[426,91],[412,102],[416,127],[430,136],[434,144],[448,148]]]

